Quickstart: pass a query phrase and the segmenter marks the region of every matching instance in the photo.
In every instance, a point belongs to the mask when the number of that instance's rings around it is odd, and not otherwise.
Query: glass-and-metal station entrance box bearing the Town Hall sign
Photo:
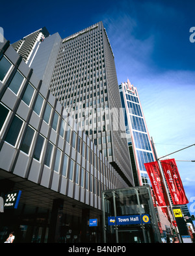
[[[105,243],[161,242],[149,185],[103,191]]]

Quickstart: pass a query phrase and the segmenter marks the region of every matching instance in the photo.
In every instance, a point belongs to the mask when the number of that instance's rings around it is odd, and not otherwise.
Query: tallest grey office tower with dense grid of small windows
[[[114,55],[103,23],[62,40],[51,93],[128,185],[134,185]]]

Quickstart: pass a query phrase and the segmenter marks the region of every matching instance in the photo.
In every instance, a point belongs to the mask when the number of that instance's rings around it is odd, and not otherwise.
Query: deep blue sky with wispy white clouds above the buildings
[[[103,21],[114,52],[118,83],[138,89],[149,135],[159,157],[195,143],[195,1],[7,1],[0,26],[15,42],[47,27],[62,38]],[[195,39],[195,37],[194,37]],[[195,146],[170,155],[195,160]],[[177,161],[188,208],[195,214],[195,163]]]

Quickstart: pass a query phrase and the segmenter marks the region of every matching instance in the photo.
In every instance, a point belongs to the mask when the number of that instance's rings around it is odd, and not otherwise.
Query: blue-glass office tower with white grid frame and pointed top
[[[127,80],[119,90],[135,185],[151,185],[144,163],[155,161],[155,155],[137,89]]]

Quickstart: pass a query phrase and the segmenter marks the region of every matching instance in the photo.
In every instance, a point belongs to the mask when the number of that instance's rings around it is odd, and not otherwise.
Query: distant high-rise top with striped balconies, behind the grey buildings
[[[44,41],[45,37],[49,37],[49,32],[47,31],[46,27],[43,27],[37,31],[34,31],[30,35],[23,37],[23,39],[14,42],[12,47],[30,67],[34,56],[36,55],[36,52],[41,42]]]

